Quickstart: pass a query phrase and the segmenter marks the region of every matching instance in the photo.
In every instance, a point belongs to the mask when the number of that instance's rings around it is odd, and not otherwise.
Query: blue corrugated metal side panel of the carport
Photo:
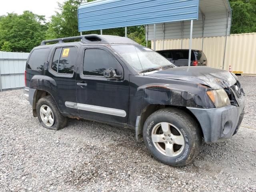
[[[199,0],[100,0],[78,7],[78,30],[198,19]]]

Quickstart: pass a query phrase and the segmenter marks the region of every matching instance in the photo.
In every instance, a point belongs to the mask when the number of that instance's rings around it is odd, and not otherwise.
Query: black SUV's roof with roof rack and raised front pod
[[[74,36],[74,37],[58,38],[58,39],[52,39],[52,40],[43,40],[41,45],[46,45],[46,43],[50,43],[50,42],[63,43],[65,40],[75,40],[75,39],[80,39],[82,43],[138,44],[135,41],[126,37],[92,34],[92,35],[81,35],[81,36]]]

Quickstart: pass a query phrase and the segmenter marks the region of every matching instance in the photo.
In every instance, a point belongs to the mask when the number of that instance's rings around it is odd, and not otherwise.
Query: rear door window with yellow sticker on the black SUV
[[[52,70],[60,74],[73,74],[76,52],[75,47],[57,48],[52,59]]]

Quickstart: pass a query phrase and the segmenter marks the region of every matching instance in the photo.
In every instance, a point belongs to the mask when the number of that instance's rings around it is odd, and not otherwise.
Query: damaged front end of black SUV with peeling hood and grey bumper
[[[198,120],[206,143],[220,142],[238,131],[244,116],[245,95],[234,74],[208,67],[180,67],[143,78],[148,84],[136,90],[138,98],[143,98],[137,105],[140,109],[151,104],[186,107]],[[220,95],[211,98],[209,92]]]

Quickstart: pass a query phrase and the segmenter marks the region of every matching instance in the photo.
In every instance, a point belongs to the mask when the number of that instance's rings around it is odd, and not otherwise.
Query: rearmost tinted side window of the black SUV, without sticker
[[[28,69],[36,71],[43,70],[48,54],[49,48],[35,49],[28,60]]]

